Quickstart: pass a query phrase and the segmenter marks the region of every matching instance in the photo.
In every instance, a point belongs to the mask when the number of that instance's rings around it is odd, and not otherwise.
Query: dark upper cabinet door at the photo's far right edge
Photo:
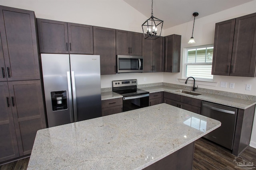
[[[254,77],[256,13],[236,18],[230,76]]]

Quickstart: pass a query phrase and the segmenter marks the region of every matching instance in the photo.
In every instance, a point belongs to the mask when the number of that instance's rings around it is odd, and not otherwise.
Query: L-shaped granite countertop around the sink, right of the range
[[[222,95],[217,95],[217,94],[210,94],[206,92],[197,92],[201,95],[194,96],[190,94],[183,94],[180,92],[176,92],[177,90],[184,90],[181,88],[176,88],[176,87],[170,87],[170,86],[152,86],[152,87],[145,87],[145,88],[140,88],[141,90],[148,91],[150,93],[154,92],[170,92],[174,94],[179,94],[182,96],[188,96],[190,98],[196,98],[200,100],[204,100],[207,102],[213,102],[216,104],[222,104],[225,106],[231,106],[231,107],[236,107],[239,109],[247,109],[250,106],[253,106],[256,104],[256,101],[252,100],[244,100],[240,98],[234,98],[234,97],[228,97],[228,96],[222,96]],[[190,90],[185,90],[185,91],[190,91]]]

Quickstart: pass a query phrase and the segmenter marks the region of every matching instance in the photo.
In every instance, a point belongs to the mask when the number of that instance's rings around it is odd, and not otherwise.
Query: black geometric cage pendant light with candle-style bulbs
[[[164,21],[153,16],[153,0],[151,6],[151,17],[142,24],[144,39],[158,39],[162,33]],[[144,33],[144,31],[147,31]],[[159,33],[160,32],[160,33]],[[157,35],[159,33],[159,35]]]

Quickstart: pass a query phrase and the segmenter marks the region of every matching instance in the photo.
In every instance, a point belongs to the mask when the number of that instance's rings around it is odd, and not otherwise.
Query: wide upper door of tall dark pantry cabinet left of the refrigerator
[[[7,79],[40,79],[34,12],[0,6],[0,32]]]

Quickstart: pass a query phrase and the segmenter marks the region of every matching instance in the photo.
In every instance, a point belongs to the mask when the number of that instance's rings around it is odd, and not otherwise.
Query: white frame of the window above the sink
[[[211,45],[200,45],[200,46],[194,46],[194,47],[186,47],[184,48],[184,60],[183,60],[183,65],[184,65],[184,73],[183,73],[183,78],[186,79],[188,78],[186,76],[186,72],[187,72],[187,65],[212,65],[212,63],[187,63],[187,58],[188,58],[188,50],[190,49],[200,49],[200,48],[208,48],[208,47],[213,47],[213,44]],[[212,78],[196,78],[196,80],[202,80],[202,81],[214,81],[214,76],[212,76]]]

